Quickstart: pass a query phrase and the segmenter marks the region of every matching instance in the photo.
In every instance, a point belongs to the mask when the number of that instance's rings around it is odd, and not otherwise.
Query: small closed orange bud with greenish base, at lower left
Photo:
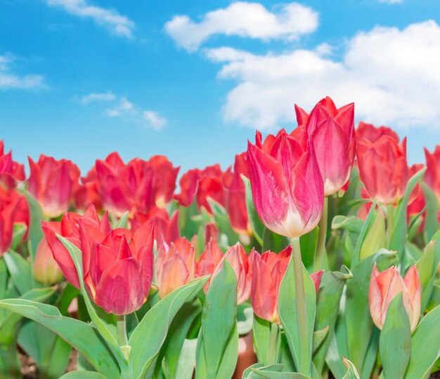
[[[55,259],[53,259],[51,248],[46,237],[41,239],[34,259],[34,278],[42,284],[55,284],[63,278]]]

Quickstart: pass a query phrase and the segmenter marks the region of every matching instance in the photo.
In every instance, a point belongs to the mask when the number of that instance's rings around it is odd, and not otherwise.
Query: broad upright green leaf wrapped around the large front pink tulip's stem
[[[299,253],[299,251],[294,251]],[[294,257],[292,257],[294,258]],[[313,325],[316,314],[316,292],[313,280],[309,277],[304,265],[301,265],[304,285],[304,306],[306,308],[305,324],[299,315],[298,302],[301,301],[300,291],[295,280],[294,259],[290,259],[287,270],[280,284],[278,312],[280,321],[289,343],[295,366],[300,373],[311,373],[311,354],[313,350]]]

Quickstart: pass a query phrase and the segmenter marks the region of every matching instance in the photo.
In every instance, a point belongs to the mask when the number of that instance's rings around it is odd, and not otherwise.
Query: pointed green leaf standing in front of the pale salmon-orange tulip
[[[403,378],[410,359],[410,351],[410,320],[403,305],[402,293],[399,293],[389,303],[380,333],[379,352],[385,378]]]

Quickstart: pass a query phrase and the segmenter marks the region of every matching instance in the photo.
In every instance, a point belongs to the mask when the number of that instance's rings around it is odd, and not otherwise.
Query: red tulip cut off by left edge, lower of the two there
[[[30,212],[26,198],[15,189],[0,185],[0,256],[11,248],[15,224],[29,228]]]

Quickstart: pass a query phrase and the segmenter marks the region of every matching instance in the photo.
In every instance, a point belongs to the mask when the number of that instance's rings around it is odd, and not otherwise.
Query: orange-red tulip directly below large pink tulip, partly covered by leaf
[[[278,254],[266,251],[259,255],[256,251],[252,251],[250,255],[252,260],[252,308],[258,317],[271,323],[280,324],[278,293],[291,254],[292,247],[287,246]],[[323,270],[311,274],[316,291],[321,284],[322,276]]]

